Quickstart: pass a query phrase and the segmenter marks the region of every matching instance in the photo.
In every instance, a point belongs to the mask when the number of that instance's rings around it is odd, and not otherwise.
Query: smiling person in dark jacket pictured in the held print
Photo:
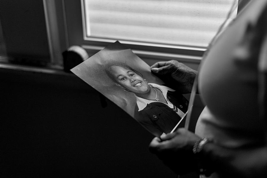
[[[108,63],[105,71],[117,86],[125,92],[134,93],[134,118],[153,134],[171,132],[185,115],[188,101],[175,90],[148,83],[142,73],[125,63]]]

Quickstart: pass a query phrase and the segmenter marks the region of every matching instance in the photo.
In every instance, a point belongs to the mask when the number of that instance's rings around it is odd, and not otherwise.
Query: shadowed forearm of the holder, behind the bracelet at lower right
[[[225,177],[266,177],[267,147],[228,149],[214,143],[207,143],[200,159],[207,169],[225,175]]]

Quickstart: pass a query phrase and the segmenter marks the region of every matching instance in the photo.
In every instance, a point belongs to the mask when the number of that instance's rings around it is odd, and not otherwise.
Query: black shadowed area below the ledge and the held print
[[[177,177],[153,135],[73,74],[0,68],[0,81],[4,177]]]

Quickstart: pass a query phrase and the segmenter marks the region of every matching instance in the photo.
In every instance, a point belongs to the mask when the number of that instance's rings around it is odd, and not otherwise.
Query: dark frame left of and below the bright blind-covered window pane
[[[66,22],[66,32],[69,46],[82,46],[92,56],[104,47],[112,44],[116,40],[102,39],[96,37],[86,37],[83,13],[83,0],[72,1],[62,0],[64,20]],[[133,50],[140,58],[155,60],[179,60],[181,62],[200,63],[206,47],[163,45],[156,43],[134,42],[119,40],[120,43]]]

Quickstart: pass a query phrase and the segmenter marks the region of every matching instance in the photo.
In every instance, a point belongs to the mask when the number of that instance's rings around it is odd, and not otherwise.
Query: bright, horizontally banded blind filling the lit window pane
[[[206,47],[238,0],[83,0],[85,39]]]

